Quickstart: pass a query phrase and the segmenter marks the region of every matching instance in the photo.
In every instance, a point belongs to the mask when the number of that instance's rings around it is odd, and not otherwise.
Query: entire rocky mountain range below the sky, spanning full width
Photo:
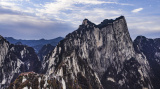
[[[43,41],[37,54],[33,45],[1,36],[0,88],[160,89],[160,39],[132,41],[124,16],[99,25],[84,19],[60,40]]]

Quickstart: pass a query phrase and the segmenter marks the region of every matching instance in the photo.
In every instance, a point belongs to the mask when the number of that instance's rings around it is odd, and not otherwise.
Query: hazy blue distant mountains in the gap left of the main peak
[[[14,39],[13,37],[5,37],[7,41],[9,41],[12,44],[17,44],[21,42],[23,45],[27,45],[30,47],[33,47],[36,51],[36,53],[39,52],[39,50],[46,44],[51,44],[52,46],[56,46],[59,41],[63,39],[63,37],[57,37],[55,39],[40,39],[40,40],[21,40],[21,39]]]

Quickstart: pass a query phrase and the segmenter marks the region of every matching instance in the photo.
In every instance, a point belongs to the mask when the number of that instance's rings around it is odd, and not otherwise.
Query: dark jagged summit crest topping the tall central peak
[[[66,35],[66,38],[82,37],[82,35],[84,35],[84,33],[86,33],[87,31],[93,31],[93,29],[95,29],[95,28],[101,30],[102,28],[105,28],[107,26],[114,27],[113,25],[117,25],[114,23],[121,23],[121,25],[123,25],[123,27],[122,27],[123,29],[121,29],[121,31],[125,32],[126,34],[129,34],[128,28],[127,28],[127,23],[126,23],[124,16],[120,16],[116,19],[105,19],[98,25],[92,23],[90,20],[85,18],[82,22],[82,25],[80,25],[77,30],[73,31],[72,34],[69,33],[68,35]],[[119,28],[114,28],[113,29],[113,30],[115,30],[114,32],[117,31],[116,29],[119,29]],[[106,29],[106,30],[109,30],[109,29]],[[81,36],[78,36],[78,35],[81,35]]]

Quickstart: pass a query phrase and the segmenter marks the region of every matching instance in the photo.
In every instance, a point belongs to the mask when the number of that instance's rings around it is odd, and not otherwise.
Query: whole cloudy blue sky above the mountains
[[[160,0],[0,0],[0,35],[65,37],[87,18],[95,24],[125,16],[131,38],[160,38]]]

